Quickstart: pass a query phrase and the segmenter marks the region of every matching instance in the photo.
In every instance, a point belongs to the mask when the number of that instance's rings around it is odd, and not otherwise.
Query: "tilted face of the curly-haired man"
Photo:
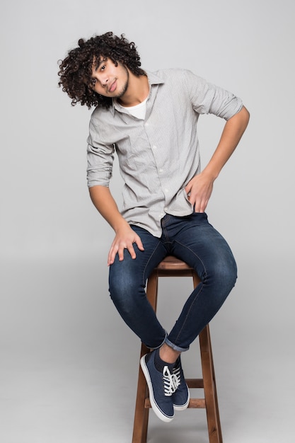
[[[117,66],[107,57],[94,60],[91,75],[91,87],[100,96],[122,97],[128,88],[129,72],[118,62]]]

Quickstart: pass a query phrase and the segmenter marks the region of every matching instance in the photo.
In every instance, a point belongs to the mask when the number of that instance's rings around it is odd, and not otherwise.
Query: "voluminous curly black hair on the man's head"
[[[59,60],[59,86],[71,98],[71,105],[109,108],[112,98],[100,96],[91,88],[93,60],[108,57],[117,66],[120,62],[136,76],[145,75],[140,68],[141,62],[134,42],[129,42],[125,35],[120,37],[112,32],[96,35],[89,40],[81,38],[79,47],[68,52],[64,60]]]

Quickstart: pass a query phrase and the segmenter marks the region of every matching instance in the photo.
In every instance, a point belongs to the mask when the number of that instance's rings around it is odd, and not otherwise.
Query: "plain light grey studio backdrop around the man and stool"
[[[191,69],[250,110],[207,208],[238,262],[212,321],[221,425],[226,443],[294,442],[294,18],[292,0],[2,0],[1,442],[131,441],[139,341],[108,296],[112,230],[86,188],[91,111],[57,87],[58,59],[109,30],[136,42],[144,69]],[[199,120],[203,165],[223,124]],[[121,185],[116,164],[119,204]],[[190,287],[161,283],[167,328]],[[203,412],[169,426],[151,413],[149,442],[207,442]]]

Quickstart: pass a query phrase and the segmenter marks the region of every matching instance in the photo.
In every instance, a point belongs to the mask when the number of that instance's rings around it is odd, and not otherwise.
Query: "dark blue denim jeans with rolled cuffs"
[[[190,347],[231,292],[237,277],[236,262],[229,245],[209,224],[207,214],[166,214],[161,224],[161,238],[132,225],[144,251],[139,251],[134,243],[135,259],[127,250],[124,260],[119,261],[116,256],[110,265],[110,297],[125,323],[147,347],[155,349],[167,343],[182,352]],[[201,279],[170,333],[158,321],[145,292],[146,279],[166,255],[184,260]]]

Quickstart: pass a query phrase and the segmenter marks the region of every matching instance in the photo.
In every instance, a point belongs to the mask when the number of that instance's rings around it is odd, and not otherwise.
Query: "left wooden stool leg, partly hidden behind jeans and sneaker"
[[[154,271],[149,277],[149,281],[146,288],[146,297],[149,300],[151,306],[153,306],[154,310],[156,310],[157,294],[158,294],[158,275],[156,271]],[[140,357],[147,354],[147,352],[149,352],[149,348],[146,347],[144,343],[142,343]],[[149,408],[145,408],[144,405],[147,396],[148,396],[148,389],[146,385],[146,379],[139,364],[139,374],[137,382],[137,400],[135,403],[132,443],[146,443],[147,430],[149,424]]]

